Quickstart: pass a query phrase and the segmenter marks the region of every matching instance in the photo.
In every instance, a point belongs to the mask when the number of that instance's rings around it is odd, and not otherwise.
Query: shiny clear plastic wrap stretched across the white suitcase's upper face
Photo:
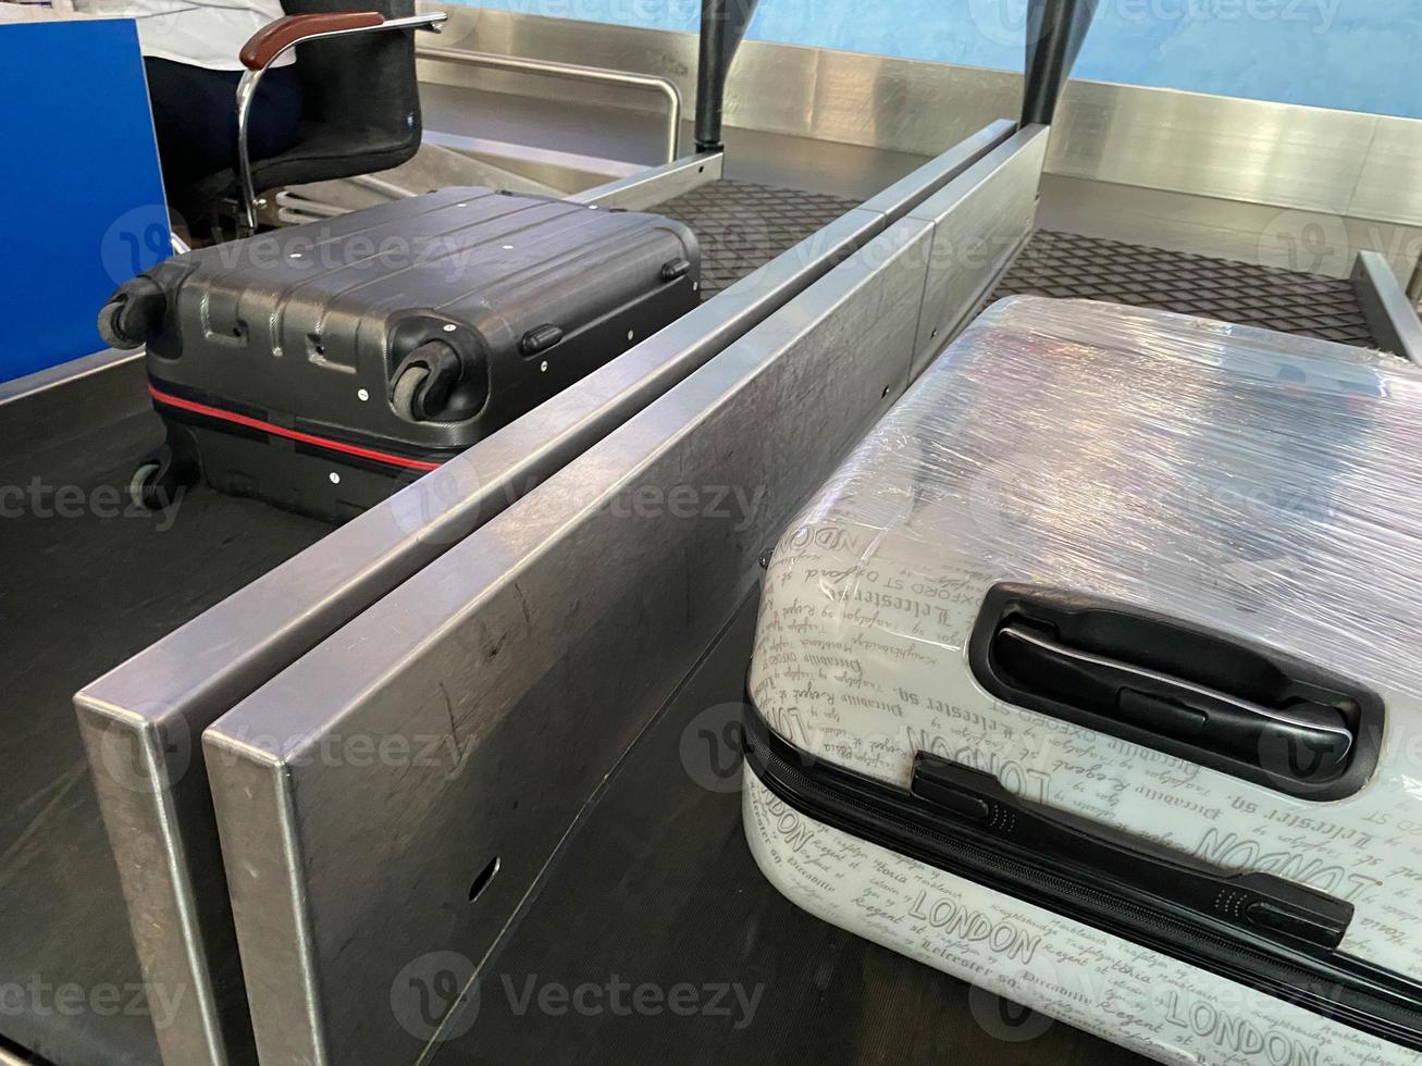
[[[825,522],[1004,578],[1240,615],[1241,635],[1422,694],[1422,371],[1385,352],[1003,300],[798,524]]]

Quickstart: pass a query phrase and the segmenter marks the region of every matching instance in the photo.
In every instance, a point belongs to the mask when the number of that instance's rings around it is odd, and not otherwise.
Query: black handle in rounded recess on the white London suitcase
[[[1372,692],[1119,603],[998,586],[970,659],[1003,699],[1290,795],[1349,795],[1376,762]]]

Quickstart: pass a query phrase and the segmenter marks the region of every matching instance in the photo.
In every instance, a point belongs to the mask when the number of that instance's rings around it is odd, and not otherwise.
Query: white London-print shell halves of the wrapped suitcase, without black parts
[[[1416,982],[1419,425],[1422,374],[1391,357],[1003,301],[778,543],[748,701],[805,765],[904,795],[929,752],[1103,834],[1347,901],[1338,951]],[[1320,802],[994,698],[970,642],[1003,581],[1108,597],[1345,674],[1385,704],[1376,765]],[[1163,1062],[1418,1060],[1266,994],[1247,961],[1231,979],[907,857],[809,813],[766,773],[748,760],[761,870],[859,935]]]

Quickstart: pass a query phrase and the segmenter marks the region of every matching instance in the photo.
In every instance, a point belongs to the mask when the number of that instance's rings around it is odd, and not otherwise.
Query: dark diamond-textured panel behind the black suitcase
[[[653,210],[701,240],[701,298],[710,300],[857,206],[843,196],[722,179]]]

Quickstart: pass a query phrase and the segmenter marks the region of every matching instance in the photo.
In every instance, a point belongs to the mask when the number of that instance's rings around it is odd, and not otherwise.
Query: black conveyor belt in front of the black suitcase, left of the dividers
[[[61,984],[75,974],[119,989],[139,986],[70,701],[328,530],[201,488],[169,517],[128,507],[128,478],[162,429],[141,377],[104,377],[112,392],[108,418],[48,424],[33,446],[0,455],[7,493],[0,517],[0,986]],[[46,1036],[27,1032],[30,1025]],[[141,1013],[36,1019],[6,1012],[0,1033],[55,1062],[156,1060],[152,1023]]]

